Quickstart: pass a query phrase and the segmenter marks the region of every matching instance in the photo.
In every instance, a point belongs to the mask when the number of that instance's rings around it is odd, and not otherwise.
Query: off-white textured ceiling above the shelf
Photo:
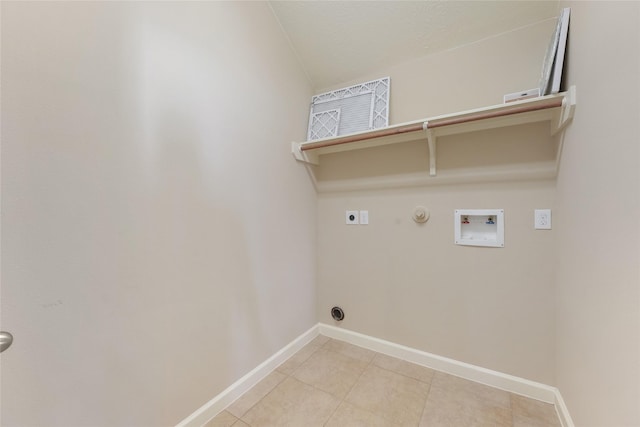
[[[270,1],[315,89],[558,15],[558,1]]]

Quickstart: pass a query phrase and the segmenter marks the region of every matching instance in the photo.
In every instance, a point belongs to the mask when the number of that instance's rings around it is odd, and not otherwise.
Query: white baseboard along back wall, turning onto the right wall
[[[374,338],[347,329],[326,325],[324,323],[319,323],[318,326],[320,328],[320,334],[330,338],[346,341],[369,350],[377,351],[378,353],[386,354],[387,356],[397,357],[399,359],[406,360],[407,362],[426,366],[436,371],[445,372],[470,381],[499,388],[510,393],[551,403],[556,407],[562,426],[574,427],[571,416],[569,415],[569,412],[564,405],[564,401],[562,400],[562,396],[560,395],[559,390],[555,387],[471,365],[469,363],[459,362],[454,359],[416,350],[411,347],[395,344],[390,341],[381,340],[379,338]]]

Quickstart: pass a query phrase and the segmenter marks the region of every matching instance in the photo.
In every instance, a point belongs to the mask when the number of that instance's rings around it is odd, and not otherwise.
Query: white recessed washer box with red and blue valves
[[[456,245],[504,247],[504,209],[456,209]]]

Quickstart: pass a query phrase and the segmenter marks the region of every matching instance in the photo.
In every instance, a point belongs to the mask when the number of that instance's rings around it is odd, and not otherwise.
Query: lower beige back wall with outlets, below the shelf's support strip
[[[321,195],[320,321],[334,324],[339,305],[341,327],[552,383],[554,234],[532,216],[553,193],[537,182]],[[505,248],[454,245],[456,208],[503,208]],[[370,225],[346,226],[345,209],[369,210]]]

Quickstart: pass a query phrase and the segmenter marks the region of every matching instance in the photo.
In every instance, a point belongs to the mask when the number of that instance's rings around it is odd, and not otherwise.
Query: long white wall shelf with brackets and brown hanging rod
[[[324,154],[351,151],[381,145],[426,140],[429,146],[429,175],[436,175],[436,147],[439,136],[456,135],[485,129],[548,121],[551,135],[561,131],[573,118],[576,89],[523,101],[445,114],[389,126],[308,142],[293,142],[296,160],[319,165]]]

